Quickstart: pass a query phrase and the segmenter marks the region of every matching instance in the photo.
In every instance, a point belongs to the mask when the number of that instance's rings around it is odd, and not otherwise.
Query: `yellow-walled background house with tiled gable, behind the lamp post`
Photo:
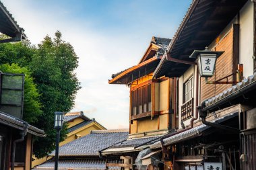
[[[88,118],[84,112],[69,112],[64,115],[64,122],[67,124],[67,138],[63,142],[59,143],[59,146],[63,146],[73,140],[81,138],[91,133],[92,130],[105,130],[104,126],[96,122],[95,119]],[[36,159],[32,161],[32,168],[45,163],[53,157],[43,157],[42,159]]]

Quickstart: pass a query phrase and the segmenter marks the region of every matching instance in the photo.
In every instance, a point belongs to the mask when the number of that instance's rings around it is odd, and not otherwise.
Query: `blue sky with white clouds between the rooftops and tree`
[[[1,0],[32,44],[57,30],[79,57],[72,111],[106,128],[129,127],[129,88],[111,74],[136,65],[152,36],[172,38],[191,0]]]

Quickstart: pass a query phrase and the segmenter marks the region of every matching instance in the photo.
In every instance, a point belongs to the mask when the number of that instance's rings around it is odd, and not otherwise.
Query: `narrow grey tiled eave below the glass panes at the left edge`
[[[27,124],[27,122],[0,112],[0,124],[5,124],[6,126],[23,130],[24,124]],[[34,134],[36,136],[44,136],[44,130],[40,130],[30,124],[28,124],[28,133]]]

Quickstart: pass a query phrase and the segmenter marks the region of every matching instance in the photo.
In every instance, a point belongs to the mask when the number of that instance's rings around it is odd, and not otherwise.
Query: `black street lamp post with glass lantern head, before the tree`
[[[63,112],[55,112],[55,124],[54,128],[56,132],[56,148],[55,148],[55,170],[58,170],[59,161],[59,132],[63,126]]]

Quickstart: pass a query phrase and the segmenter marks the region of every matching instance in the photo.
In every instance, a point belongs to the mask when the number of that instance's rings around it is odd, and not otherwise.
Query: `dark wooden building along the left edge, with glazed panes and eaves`
[[[20,28],[1,2],[0,32],[7,36],[0,40],[0,43],[15,42],[26,38],[24,29]],[[44,131],[22,120],[23,96],[15,95],[15,97],[11,96],[12,98],[9,99],[10,95],[8,94],[24,91],[24,87],[20,85],[24,83],[24,79],[22,80],[24,76],[11,75],[11,77],[8,77],[9,75],[11,74],[0,74],[0,169],[29,170],[32,161],[33,136],[44,136]],[[23,82],[13,81],[11,78],[15,76],[18,76],[16,78]],[[6,79],[12,83],[5,82]],[[15,101],[18,101],[18,103],[15,103]]]

